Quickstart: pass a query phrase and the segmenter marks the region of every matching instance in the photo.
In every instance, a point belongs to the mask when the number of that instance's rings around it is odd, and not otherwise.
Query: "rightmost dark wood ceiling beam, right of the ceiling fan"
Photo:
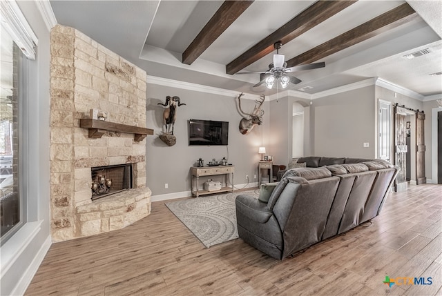
[[[340,50],[354,46],[356,43],[360,43],[387,30],[401,26],[403,23],[412,21],[412,19],[416,17],[418,17],[418,14],[413,8],[411,8],[408,3],[404,3],[352,30],[340,34],[338,37],[326,41],[320,46],[316,46],[316,48],[312,48],[293,59],[289,59],[287,61],[287,67],[318,61]]]

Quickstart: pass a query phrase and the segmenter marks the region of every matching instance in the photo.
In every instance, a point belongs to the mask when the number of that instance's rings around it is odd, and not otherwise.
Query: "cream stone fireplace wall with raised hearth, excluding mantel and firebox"
[[[95,108],[107,121],[146,127],[146,72],[73,28],[57,25],[50,38],[52,241],[123,228],[151,213],[146,141],[118,132],[92,139],[79,119]],[[134,189],[91,200],[91,167],[130,163]]]

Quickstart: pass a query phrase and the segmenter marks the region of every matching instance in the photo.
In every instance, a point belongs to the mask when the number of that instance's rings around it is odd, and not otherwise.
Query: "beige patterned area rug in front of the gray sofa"
[[[258,198],[259,192],[247,190],[195,197],[173,201],[166,206],[206,248],[209,248],[238,238],[235,209],[235,199],[238,195],[253,195]]]

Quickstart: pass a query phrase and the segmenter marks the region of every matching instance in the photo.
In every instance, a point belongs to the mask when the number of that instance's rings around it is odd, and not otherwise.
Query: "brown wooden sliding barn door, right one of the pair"
[[[427,183],[427,178],[425,177],[424,122],[425,114],[418,111],[416,113],[416,184],[418,185]]]

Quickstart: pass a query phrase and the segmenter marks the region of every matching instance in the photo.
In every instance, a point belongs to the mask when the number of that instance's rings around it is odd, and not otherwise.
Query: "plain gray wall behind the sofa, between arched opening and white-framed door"
[[[374,97],[374,86],[367,86],[314,99],[314,155],[374,158]]]

